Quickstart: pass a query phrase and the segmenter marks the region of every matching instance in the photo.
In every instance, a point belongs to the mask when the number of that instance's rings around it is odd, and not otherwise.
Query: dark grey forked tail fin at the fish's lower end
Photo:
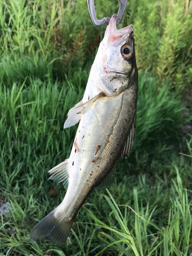
[[[72,220],[68,220],[63,218],[62,215],[63,211],[58,207],[52,210],[50,214],[37,223],[31,230],[29,238],[32,241],[48,238],[56,243],[57,246],[61,247],[67,241],[69,232],[75,220],[75,217]]]

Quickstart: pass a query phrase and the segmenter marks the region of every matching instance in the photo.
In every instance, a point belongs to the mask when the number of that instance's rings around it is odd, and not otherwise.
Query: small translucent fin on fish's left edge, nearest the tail
[[[59,183],[64,181],[63,185],[65,185],[65,187],[68,187],[69,176],[68,176],[67,165],[68,165],[68,159],[66,159],[62,163],[59,163],[58,165],[53,167],[51,170],[49,170],[48,173],[52,174],[51,177],[49,177],[49,180],[56,180]]]

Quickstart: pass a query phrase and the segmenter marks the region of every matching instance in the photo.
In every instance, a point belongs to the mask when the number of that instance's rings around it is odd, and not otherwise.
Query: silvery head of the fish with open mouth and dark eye
[[[136,67],[132,25],[118,30],[113,15],[98,49],[97,72],[101,90],[108,96],[124,91],[131,83]]]

